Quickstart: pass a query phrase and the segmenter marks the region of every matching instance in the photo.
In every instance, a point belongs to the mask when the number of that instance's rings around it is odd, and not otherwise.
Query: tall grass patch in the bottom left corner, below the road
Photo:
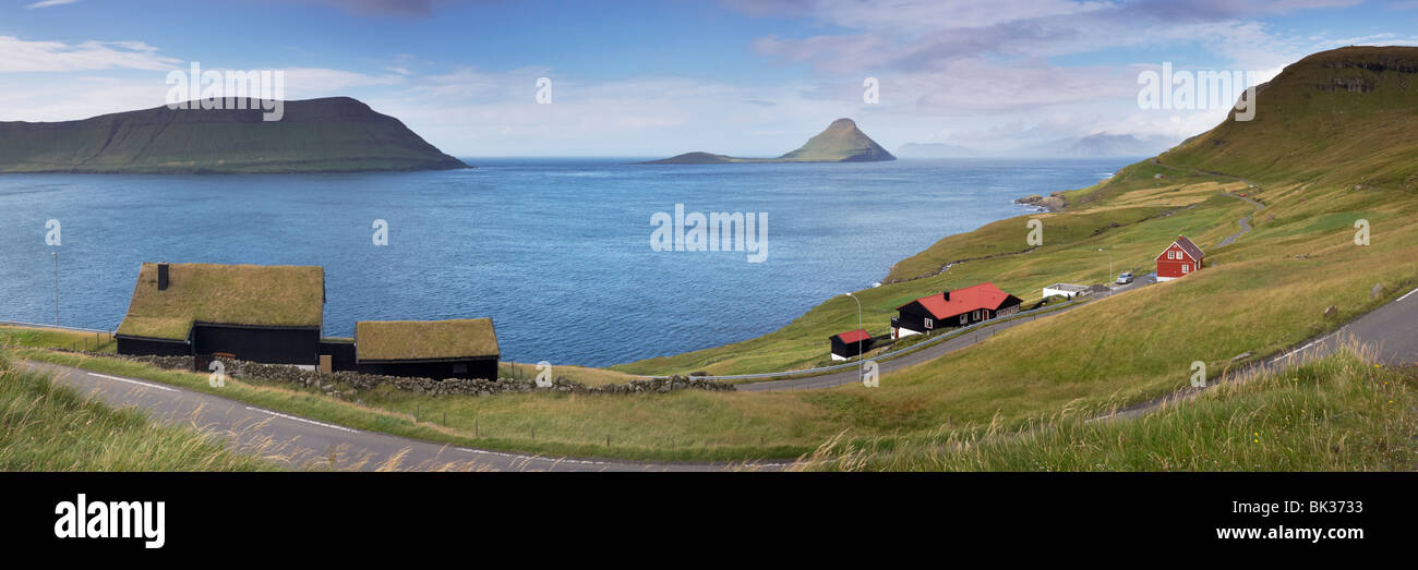
[[[0,471],[271,471],[217,435],[112,410],[0,357]]]

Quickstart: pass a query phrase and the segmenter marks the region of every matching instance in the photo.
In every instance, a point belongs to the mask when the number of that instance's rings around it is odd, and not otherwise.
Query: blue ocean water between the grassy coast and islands
[[[942,237],[1133,162],[638,166],[295,176],[0,174],[0,319],[113,329],[143,261],[323,265],[325,335],[489,316],[503,359],[607,366],[773,332]],[[655,251],[651,218],[766,213],[746,251]],[[757,216],[756,216],[757,217]],[[45,244],[48,220],[61,245]],[[374,220],[389,245],[373,244]],[[1022,230],[1021,230],[1022,231]]]

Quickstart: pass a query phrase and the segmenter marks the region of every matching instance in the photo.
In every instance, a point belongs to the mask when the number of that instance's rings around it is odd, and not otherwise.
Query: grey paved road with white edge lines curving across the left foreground
[[[719,471],[781,469],[790,462],[651,464],[620,459],[570,459],[472,449],[353,430],[265,410],[177,386],[99,374],[67,366],[24,362],[54,381],[92,394],[112,407],[136,407],[155,420],[197,427],[231,442],[231,449],[262,455],[292,468],[349,471]]]

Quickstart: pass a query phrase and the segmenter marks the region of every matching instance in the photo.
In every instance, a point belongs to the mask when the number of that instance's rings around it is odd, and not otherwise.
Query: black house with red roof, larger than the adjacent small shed
[[[1020,312],[1022,302],[988,282],[923,296],[896,308],[898,315],[891,319],[891,336],[900,339],[1012,315]]]

